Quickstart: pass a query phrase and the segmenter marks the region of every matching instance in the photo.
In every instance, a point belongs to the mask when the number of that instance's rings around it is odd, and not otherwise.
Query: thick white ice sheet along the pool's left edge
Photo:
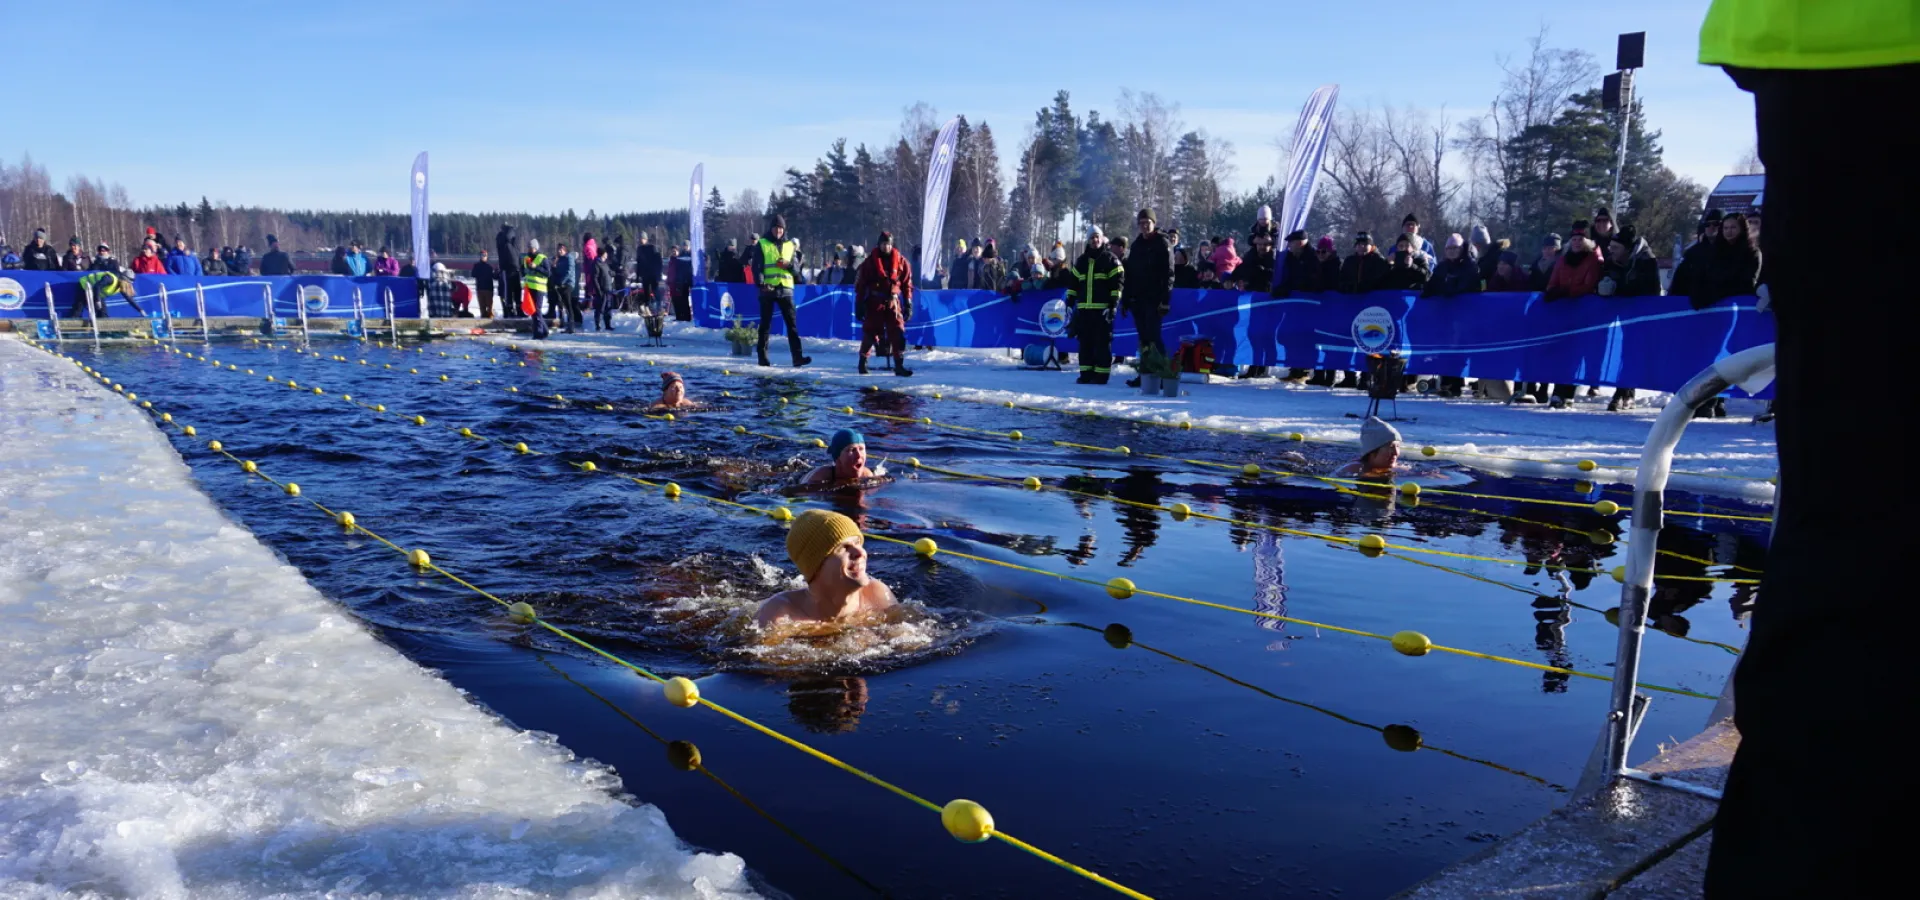
[[[138,409],[0,340],[0,896],[749,896],[374,639]]]

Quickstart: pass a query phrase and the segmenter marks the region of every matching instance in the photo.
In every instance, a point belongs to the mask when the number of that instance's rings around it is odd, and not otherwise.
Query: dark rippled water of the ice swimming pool
[[[202,441],[225,441],[300,482],[307,497],[353,510],[403,547],[430,549],[447,570],[532,603],[611,652],[701,677],[705,697],[933,802],[979,800],[1008,833],[1154,896],[1390,894],[1559,806],[1561,785],[1578,779],[1599,733],[1603,681],[1448,654],[1409,658],[1380,641],[1150,597],[1116,601],[1096,587],[950,555],[922,560],[879,541],[868,545],[872,572],[910,601],[897,616],[768,647],[749,622],[756,601],[791,583],[778,524],[666,501],[568,461],[760,507],[835,507],[877,533],[927,535],[945,551],[1044,572],[1125,576],[1236,608],[1382,633],[1419,629],[1453,647],[1607,672],[1617,629],[1605,610],[1619,585],[1553,568],[1624,562],[1620,522],[1586,509],[1432,495],[1409,507],[1325,484],[1048,443],[1125,443],[1233,464],[1267,464],[1292,449],[1258,438],[703,372],[687,374],[689,391],[716,409],[666,422],[632,413],[655,397],[660,372],[636,361],[476,342],[426,353],[346,342],[317,349],[321,359],[213,347],[215,359],[253,376],[154,347],[106,349],[90,363],[198,426],[200,439],[173,439],[207,493],[323,593],[516,725],[614,766],[682,839],[741,854],[793,896],[1110,892],[998,842],[960,844],[935,816],[885,791],[710,712],[676,710],[632,674],[513,626],[493,604],[415,574],[365,535],[328,528]],[[451,355],[442,359],[442,349]],[[334,353],[349,363],[326,359]],[[357,365],[361,357],[371,365]],[[520,361],[528,367],[513,365]],[[267,384],[267,372],[326,393]],[[430,424],[374,416],[340,393]],[[799,403],[781,405],[780,395]],[[603,403],[616,411],[599,411]],[[1027,439],[829,411],[845,405],[1020,428]],[[852,424],[891,482],[864,497],[789,493],[824,453],[733,434],[735,424],[787,438]],[[449,426],[553,455],[515,455]],[[908,457],[1037,476],[1083,495],[937,476],[914,470]],[[1313,462],[1331,468],[1340,459]],[[1582,499],[1567,482],[1457,468],[1417,478]],[[1108,495],[1528,564],[1367,558],[1248,524],[1177,522]],[[1701,501],[1670,497],[1672,507],[1686,503]],[[1661,574],[1764,568],[1764,526],[1701,522],[1668,518],[1661,547],[1672,553],[1661,557]],[[1751,603],[1749,587],[1659,581],[1663,631],[1647,637],[1645,681],[1718,693],[1732,656],[1709,641],[1741,645]],[[1640,746],[1651,752],[1692,735],[1709,708],[1655,695]],[[674,766],[676,741],[699,746],[703,771]]]

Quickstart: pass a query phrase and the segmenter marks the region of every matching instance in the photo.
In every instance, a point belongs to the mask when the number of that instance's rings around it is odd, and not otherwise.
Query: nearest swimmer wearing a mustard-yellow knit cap
[[[760,603],[760,628],[804,622],[849,622],[895,606],[893,589],[866,570],[866,537],[851,518],[810,509],[787,530],[787,558],[806,587]]]

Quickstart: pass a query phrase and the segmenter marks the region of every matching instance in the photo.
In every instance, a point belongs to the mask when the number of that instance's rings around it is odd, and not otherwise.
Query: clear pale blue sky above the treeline
[[[660,209],[685,201],[693,163],[730,198],[766,194],[837,136],[885,144],[914,102],[991,123],[1010,159],[1056,88],[1106,113],[1125,86],[1231,140],[1244,188],[1279,169],[1273,142],[1317,84],[1338,83],[1342,107],[1478,115],[1498,58],[1542,25],[1603,69],[1615,35],[1647,33],[1638,94],[1682,175],[1713,186],[1753,142],[1749,96],[1693,61],[1707,0],[1192,10],[106,2],[79,25],[109,40],[104,54],[10,42],[0,157],[33,154],[56,186],[117,180],[142,205],[403,211],[407,167],[428,150],[436,209]],[[108,127],[86,127],[98,113]]]

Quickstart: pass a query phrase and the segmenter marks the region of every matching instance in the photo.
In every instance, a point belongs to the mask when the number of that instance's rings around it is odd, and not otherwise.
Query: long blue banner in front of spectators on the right
[[[806,338],[860,340],[852,292],[803,284],[793,290]],[[751,284],[705,284],[693,292],[695,324],[756,324]],[[935,347],[1021,347],[1068,336],[1064,292],[1020,299],[987,290],[914,294],[906,342]],[[1774,340],[1774,319],[1753,297],[1693,309],[1686,297],[1578,297],[1546,303],[1538,294],[1298,294],[1175,290],[1162,324],[1167,345],[1212,342],[1233,365],[1361,368],[1367,353],[1400,353],[1407,372],[1526,382],[1676,390],[1715,359]],[[780,317],[774,332],[781,334]],[[1139,353],[1131,319],[1114,324],[1114,353]]]

